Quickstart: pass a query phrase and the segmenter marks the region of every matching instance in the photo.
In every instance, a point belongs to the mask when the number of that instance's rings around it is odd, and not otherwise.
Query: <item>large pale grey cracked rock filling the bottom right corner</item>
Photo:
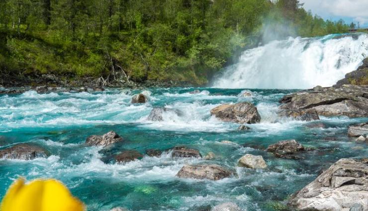
[[[368,210],[368,164],[341,159],[294,194],[289,205],[300,211]]]

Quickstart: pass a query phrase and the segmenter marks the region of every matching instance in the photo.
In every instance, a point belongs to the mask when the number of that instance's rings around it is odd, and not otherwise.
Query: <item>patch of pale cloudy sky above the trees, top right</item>
[[[323,19],[345,20],[362,27],[368,27],[368,0],[299,0],[306,10]]]

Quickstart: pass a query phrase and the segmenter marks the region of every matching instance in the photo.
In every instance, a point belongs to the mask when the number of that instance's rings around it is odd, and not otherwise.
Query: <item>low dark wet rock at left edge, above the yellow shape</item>
[[[32,160],[37,157],[47,157],[48,151],[31,143],[18,143],[0,150],[2,159]]]

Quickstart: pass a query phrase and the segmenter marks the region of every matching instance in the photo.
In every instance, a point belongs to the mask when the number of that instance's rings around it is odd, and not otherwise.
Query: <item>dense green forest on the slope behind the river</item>
[[[0,71],[200,85],[244,49],[345,32],[298,0],[1,0]]]

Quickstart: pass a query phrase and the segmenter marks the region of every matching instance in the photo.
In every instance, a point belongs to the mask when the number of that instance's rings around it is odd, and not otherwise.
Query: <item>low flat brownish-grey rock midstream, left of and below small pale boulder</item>
[[[230,177],[232,172],[219,165],[184,165],[177,176],[192,179],[220,180]]]

